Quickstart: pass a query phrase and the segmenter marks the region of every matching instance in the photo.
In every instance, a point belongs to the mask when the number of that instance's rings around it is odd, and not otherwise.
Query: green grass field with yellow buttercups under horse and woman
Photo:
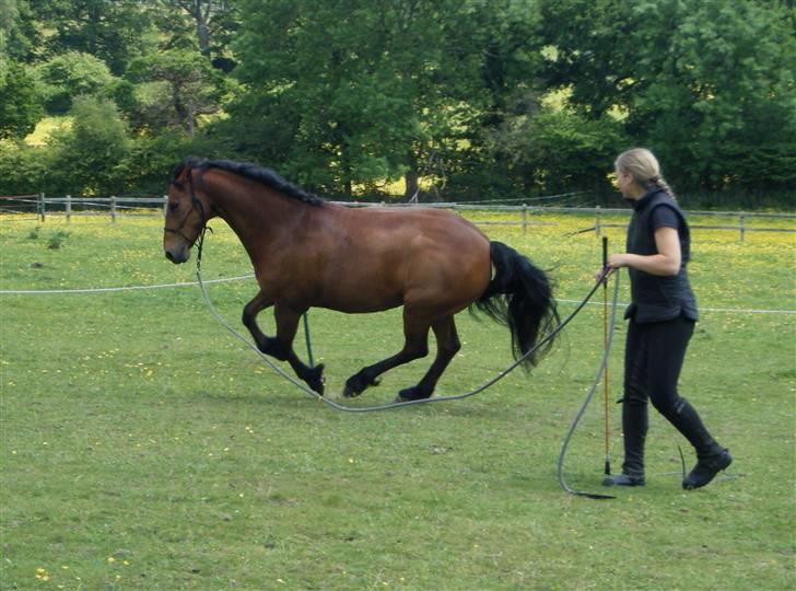
[[[600,241],[571,234],[584,220],[552,221],[487,231],[551,269],[569,313]],[[212,225],[204,278],[250,273]],[[609,235],[618,248],[622,232]],[[647,486],[607,501],[566,495],[555,476],[601,352],[601,305],[530,375],[464,402],[352,415],[276,375],[196,288],[0,294],[0,588],[793,589],[796,315],[744,312],[796,310],[792,236],[694,235],[703,312],[681,391],[735,455],[731,477],[683,491],[677,445],[689,467],[692,450],[653,413]],[[0,289],[192,281],[161,240],[156,219],[0,219]],[[235,326],[254,292],[251,280],[210,288]],[[400,346],[399,311],[309,317],[331,395]],[[458,324],[443,395],[511,360],[505,328],[467,313]],[[612,398],[623,323],[616,334]],[[390,401],[428,362],[352,404]],[[601,491],[601,415],[595,401],[571,444],[574,487]],[[616,472],[616,405],[610,422]]]

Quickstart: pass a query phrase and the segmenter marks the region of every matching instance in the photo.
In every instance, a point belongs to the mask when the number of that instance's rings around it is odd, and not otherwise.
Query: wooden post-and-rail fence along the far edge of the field
[[[165,216],[167,197],[85,197],[74,198],[70,195],[66,197],[46,197],[39,195],[21,195],[21,196],[0,196],[0,211],[12,212],[19,209],[26,209],[30,212],[35,210],[37,218],[44,222],[47,215],[63,213],[67,222],[71,221],[73,215],[96,216],[97,211],[107,210],[112,221],[130,211],[140,210],[157,210],[156,215]],[[414,204],[365,204],[365,202],[348,202],[331,201],[337,205],[348,207],[372,207],[375,205],[382,207],[418,207]],[[48,210],[47,206],[55,206],[58,209]],[[520,225],[523,232],[527,232],[531,225],[557,225],[555,222],[548,222],[532,219],[534,213],[574,213],[581,216],[589,216],[594,218],[594,225],[586,228],[583,232],[594,231],[597,235],[606,228],[627,228],[627,223],[616,223],[616,221],[607,221],[606,217],[617,216],[630,217],[629,209],[614,209],[601,207],[547,207],[547,206],[503,206],[503,205],[472,205],[472,204],[421,204],[422,207],[434,207],[443,209],[452,209],[454,211],[484,211],[484,212],[506,212],[518,217],[517,221],[513,220],[477,220],[475,223],[479,225]],[[81,211],[75,211],[74,207],[82,207]],[[155,213],[144,213],[155,215]],[[742,241],[747,232],[796,232],[796,227],[791,228],[759,228],[749,225],[748,221],[752,219],[772,219],[772,220],[796,220],[796,213],[768,213],[760,211],[687,211],[689,218],[693,217],[714,217],[717,219],[734,219],[736,224],[715,223],[703,224],[692,223],[691,228],[702,230],[734,230],[740,233]]]

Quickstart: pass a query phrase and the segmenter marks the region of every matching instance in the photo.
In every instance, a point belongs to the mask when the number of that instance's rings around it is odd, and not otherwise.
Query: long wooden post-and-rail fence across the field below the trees
[[[547,197],[529,198],[528,201],[539,202],[546,199],[566,198],[570,195],[563,194]],[[0,213],[7,213],[2,219],[32,220],[37,219],[45,222],[48,216],[62,216],[70,222],[73,216],[109,217],[116,221],[119,217],[141,216],[165,216],[168,198],[162,197],[47,197],[38,195],[14,195],[0,196]],[[351,201],[330,201],[347,207],[432,207],[449,209],[460,212],[490,212],[504,213],[505,219],[473,220],[479,225],[517,225],[527,232],[534,225],[558,225],[554,221],[540,219],[542,213],[570,213],[580,215],[589,220],[588,225],[578,232],[595,232],[597,235],[604,229],[627,228],[627,219],[630,218],[629,209],[602,208],[602,207],[561,207],[545,205],[491,205],[487,202],[437,202],[437,204],[371,204]],[[796,213],[774,213],[760,211],[687,211],[689,217],[706,218],[715,220],[715,223],[691,223],[692,229],[701,230],[730,230],[739,233],[744,241],[748,232],[796,232]],[[620,221],[618,221],[618,219]],[[775,220],[779,225],[760,225],[761,220]]]

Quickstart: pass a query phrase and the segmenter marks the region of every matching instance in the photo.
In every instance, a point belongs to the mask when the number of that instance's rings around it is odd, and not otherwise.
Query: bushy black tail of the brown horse
[[[519,359],[561,322],[552,287],[545,271],[511,246],[501,242],[490,243],[490,258],[494,277],[472,305],[508,326],[514,358]],[[536,366],[550,350],[553,340],[529,355],[523,364],[528,369]]]

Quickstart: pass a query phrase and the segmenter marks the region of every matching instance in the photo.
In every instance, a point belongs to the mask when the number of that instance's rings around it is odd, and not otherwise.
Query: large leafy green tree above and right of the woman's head
[[[667,35],[653,33],[668,23],[652,4],[634,10],[651,31],[630,132],[655,143],[670,176],[684,187],[795,186],[793,11],[751,0],[667,5],[668,19],[679,23]],[[665,59],[657,57],[662,48]]]

